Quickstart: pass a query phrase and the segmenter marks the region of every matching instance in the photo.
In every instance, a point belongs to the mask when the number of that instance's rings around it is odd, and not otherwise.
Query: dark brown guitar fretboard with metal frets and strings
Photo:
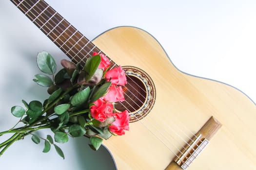
[[[11,1],[73,62],[83,66],[94,51],[103,53],[44,0]],[[111,67],[116,65],[111,63]]]

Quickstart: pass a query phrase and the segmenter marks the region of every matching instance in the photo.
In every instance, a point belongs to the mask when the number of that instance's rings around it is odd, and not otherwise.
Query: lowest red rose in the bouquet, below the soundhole
[[[129,130],[129,114],[128,111],[125,110],[121,113],[116,113],[115,121],[109,126],[109,131],[113,132],[117,135],[124,135],[124,130]]]

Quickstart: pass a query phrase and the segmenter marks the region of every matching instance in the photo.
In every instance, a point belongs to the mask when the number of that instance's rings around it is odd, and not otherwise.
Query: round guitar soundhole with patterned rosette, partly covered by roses
[[[143,70],[136,67],[123,67],[127,76],[127,85],[123,88],[124,102],[118,102],[116,109],[128,110],[130,122],[143,119],[152,109],[156,99],[156,89],[152,79]]]

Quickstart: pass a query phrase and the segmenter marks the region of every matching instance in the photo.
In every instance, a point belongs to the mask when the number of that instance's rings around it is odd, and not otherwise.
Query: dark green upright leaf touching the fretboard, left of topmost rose
[[[86,81],[89,81],[91,79],[94,72],[98,68],[100,61],[101,61],[101,58],[99,55],[95,55],[86,61],[84,66],[84,70],[88,73],[88,75],[86,76]]]

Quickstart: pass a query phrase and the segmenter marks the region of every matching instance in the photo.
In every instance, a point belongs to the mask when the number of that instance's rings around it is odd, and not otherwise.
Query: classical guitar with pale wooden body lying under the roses
[[[128,84],[117,109],[129,110],[130,131],[104,141],[118,170],[256,169],[256,105],[243,93],[178,71],[138,28],[91,42],[44,0],[11,1],[74,62],[96,51],[111,56],[111,67],[124,66]]]

